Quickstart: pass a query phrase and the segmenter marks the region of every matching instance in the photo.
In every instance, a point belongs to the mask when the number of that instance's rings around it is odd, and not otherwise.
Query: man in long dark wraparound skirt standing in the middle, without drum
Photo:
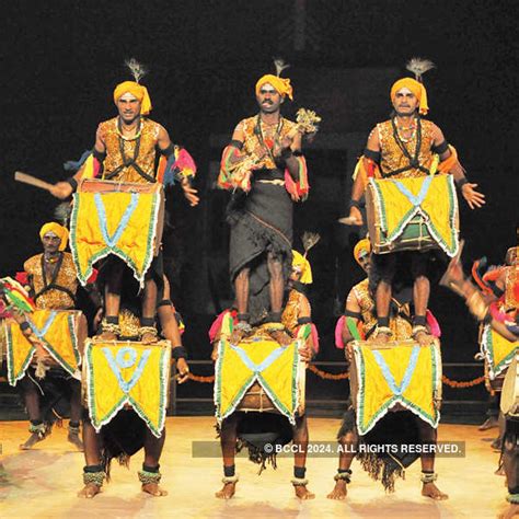
[[[281,311],[292,264],[292,201],[304,200],[309,186],[301,134],[280,114],[286,97],[292,99],[290,80],[279,77],[282,68],[257,81],[260,113],[235,127],[218,177],[220,188],[233,192],[228,216],[239,321],[233,343],[261,321],[273,323],[273,338],[288,341]]]

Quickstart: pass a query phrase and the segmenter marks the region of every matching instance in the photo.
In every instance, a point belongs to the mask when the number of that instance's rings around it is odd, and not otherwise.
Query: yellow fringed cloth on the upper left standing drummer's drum
[[[115,254],[143,286],[153,260],[159,215],[157,193],[76,193],[70,249],[82,285],[99,260]]]

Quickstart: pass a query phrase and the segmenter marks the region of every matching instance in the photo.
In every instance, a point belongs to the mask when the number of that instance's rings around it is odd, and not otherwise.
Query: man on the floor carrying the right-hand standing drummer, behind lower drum
[[[354,256],[360,267],[368,274],[370,269],[371,245],[368,239],[360,240],[354,249]],[[358,328],[362,339],[369,339],[377,325],[374,314],[374,300],[369,290],[368,278],[355,285],[346,299],[346,309],[344,316],[341,318],[336,335],[336,346],[345,349],[346,359],[351,362],[351,342],[355,341],[353,332],[348,326],[347,320]],[[439,327],[436,319],[428,312],[427,332],[439,336]],[[395,341],[405,341],[411,337],[411,311],[408,302],[392,300],[391,320],[389,322],[390,330]],[[346,347],[345,347],[346,346]],[[436,443],[437,430],[429,424],[422,420],[418,416],[413,415],[416,422],[417,440],[424,443]],[[351,463],[355,458],[355,451],[359,443],[359,436],[355,426],[355,410],[353,405],[344,415],[343,424],[337,434],[337,438],[343,449],[339,454],[339,466],[335,475],[335,487],[327,495],[328,499],[344,499],[347,495],[347,484],[351,482]],[[404,423],[404,422],[403,422]],[[405,426],[404,426],[405,427]],[[437,474],[435,473],[434,454],[422,454],[422,495],[432,499],[447,499],[435,484]],[[391,478],[391,469],[384,469],[388,472],[388,480]]]

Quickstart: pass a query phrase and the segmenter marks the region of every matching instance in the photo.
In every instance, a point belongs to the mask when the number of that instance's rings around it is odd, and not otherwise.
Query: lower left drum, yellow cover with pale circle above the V
[[[123,408],[134,408],[155,437],[165,424],[171,344],[88,339],[83,358],[83,405],[95,430]]]

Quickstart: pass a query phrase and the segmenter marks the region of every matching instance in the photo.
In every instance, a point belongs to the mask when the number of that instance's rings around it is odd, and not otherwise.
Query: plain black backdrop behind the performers
[[[37,231],[57,205],[43,191],[16,185],[13,172],[50,182],[67,176],[62,163],[91,148],[96,125],[115,115],[113,89],[131,79],[124,67],[130,57],[150,70],[142,83],[154,106],[151,117],[191,151],[199,169],[199,207],[189,209],[175,191],[169,195],[172,228],[165,243],[194,358],[208,358],[207,327],[230,298],[227,194],[214,189],[216,163],[238,120],[255,113],[254,84],[274,72],[273,56],[292,66],[285,73],[295,103],[287,103],[285,114],[305,106],[323,116],[307,151],[311,195],[296,209],[297,235],[322,234],[310,256],[320,360],[342,358],[333,344],[334,321],[345,292],[362,277],[350,258],[357,237],[336,219],[346,212],[355,159],[370,128],[388,117],[390,86],[408,74],[408,58],[427,57],[437,65],[425,78],[430,118],[487,196],[487,205],[474,212],[460,200],[465,263],[485,254],[500,263],[515,244],[519,54],[514,0],[22,0],[4,2],[1,14],[2,274],[21,269],[38,252]],[[431,309],[443,328],[443,359],[471,361],[477,331],[462,301],[434,287]],[[480,373],[457,368],[447,374]],[[189,384],[185,391],[200,391]],[[324,395],[344,389],[323,384]],[[485,397],[482,387],[464,395]]]

